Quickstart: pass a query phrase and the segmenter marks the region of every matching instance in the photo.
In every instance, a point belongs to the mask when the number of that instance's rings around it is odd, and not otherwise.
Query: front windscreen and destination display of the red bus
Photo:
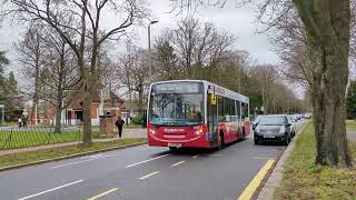
[[[194,126],[204,123],[202,83],[154,84],[150,92],[149,123]]]

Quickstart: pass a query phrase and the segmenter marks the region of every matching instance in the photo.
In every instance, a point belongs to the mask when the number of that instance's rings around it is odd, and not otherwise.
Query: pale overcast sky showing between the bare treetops
[[[233,2],[233,1],[231,1]],[[165,28],[175,27],[177,21],[182,16],[168,13],[170,4],[168,0],[151,0],[151,19],[159,20],[158,23],[151,28],[152,38],[159,36],[160,31]],[[256,33],[259,24],[256,22],[256,12],[251,8],[236,8],[234,4],[227,4],[225,8],[219,9],[216,7],[201,8],[196,12],[196,17],[201,21],[212,22],[217,28],[224,29],[235,34],[238,40],[235,47],[238,50],[247,50],[258,63],[278,63],[278,57],[270,50],[271,47],[268,42],[266,34]],[[108,20],[109,23],[115,21]],[[138,41],[140,46],[147,47],[147,28],[136,28],[138,32]],[[8,67],[7,71],[17,68],[14,51],[12,48],[13,42],[22,38],[21,24],[10,26],[3,23],[0,29],[0,50],[8,50],[8,57],[12,64]]]

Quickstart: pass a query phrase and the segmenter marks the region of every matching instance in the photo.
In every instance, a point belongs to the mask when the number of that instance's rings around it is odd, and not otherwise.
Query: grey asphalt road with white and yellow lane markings
[[[0,172],[0,199],[235,200],[284,148],[253,137],[220,151],[145,144]]]

